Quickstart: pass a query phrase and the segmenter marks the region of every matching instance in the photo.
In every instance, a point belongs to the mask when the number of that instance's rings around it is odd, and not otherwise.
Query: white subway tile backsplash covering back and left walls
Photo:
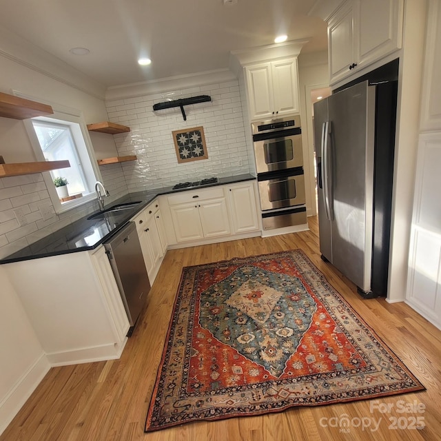
[[[103,183],[110,192],[108,203],[135,192],[174,185],[211,176],[232,176],[250,172],[244,126],[242,85],[238,81],[174,90],[171,99],[208,94],[212,102],[185,106],[187,121],[178,107],[153,112],[154,103],[169,94],[156,93],[107,101],[109,121],[129,125],[129,133],[114,135],[120,156],[136,154],[137,161],[100,167]],[[246,109],[245,109],[246,111]],[[246,115],[245,115],[246,116]],[[202,126],[208,158],[179,164],[172,131]],[[239,167],[238,163],[241,164]],[[254,170],[254,166],[253,166]],[[34,243],[51,232],[70,225],[98,209],[96,201],[43,220],[39,208],[52,207],[41,174],[0,179],[0,258]],[[20,227],[14,209],[25,210],[28,225]],[[53,210],[53,207],[52,207]]]

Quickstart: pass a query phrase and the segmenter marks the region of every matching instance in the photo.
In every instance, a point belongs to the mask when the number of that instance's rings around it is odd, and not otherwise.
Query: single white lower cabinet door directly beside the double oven
[[[258,229],[256,199],[250,183],[229,187],[229,203],[235,234]]]

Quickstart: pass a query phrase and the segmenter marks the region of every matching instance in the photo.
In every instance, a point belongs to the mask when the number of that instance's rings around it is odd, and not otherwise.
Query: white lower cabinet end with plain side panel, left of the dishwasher
[[[103,246],[3,268],[52,366],[121,356],[130,325]]]

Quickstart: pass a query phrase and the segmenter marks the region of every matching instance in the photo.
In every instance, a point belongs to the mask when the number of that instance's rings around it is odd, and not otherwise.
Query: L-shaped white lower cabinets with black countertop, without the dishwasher
[[[112,203],[129,209],[81,218],[0,260],[51,365],[121,356],[130,326],[103,243],[136,223],[153,284],[168,247],[259,236],[255,185],[254,176],[241,174],[189,189],[130,193]],[[187,213],[194,210],[202,236],[183,237]],[[204,231],[207,216],[213,220]],[[193,231],[194,224],[189,227]]]

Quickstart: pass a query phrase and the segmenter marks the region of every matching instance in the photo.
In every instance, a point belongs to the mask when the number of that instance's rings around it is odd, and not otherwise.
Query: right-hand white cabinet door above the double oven
[[[297,59],[273,61],[271,78],[276,115],[299,113]]]

